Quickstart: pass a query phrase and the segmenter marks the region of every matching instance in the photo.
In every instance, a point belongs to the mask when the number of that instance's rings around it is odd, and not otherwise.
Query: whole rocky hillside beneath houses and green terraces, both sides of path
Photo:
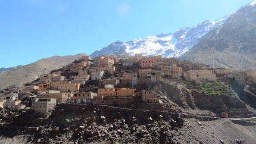
[[[162,104],[117,108],[104,105],[58,104],[47,115],[29,108],[0,109],[0,134],[32,143],[255,143],[256,118],[249,94],[207,95],[183,83],[148,86]],[[248,91],[249,90],[249,91]],[[244,93],[243,93],[244,94]],[[240,98],[241,97],[241,98]],[[132,109],[133,108],[133,109]],[[220,118],[218,108],[248,108],[252,118]]]

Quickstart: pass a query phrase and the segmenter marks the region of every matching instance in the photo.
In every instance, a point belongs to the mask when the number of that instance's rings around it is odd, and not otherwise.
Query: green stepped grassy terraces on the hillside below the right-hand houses
[[[225,86],[220,82],[202,82],[200,85],[201,89],[210,95],[229,95],[235,96],[232,88],[229,86]]]

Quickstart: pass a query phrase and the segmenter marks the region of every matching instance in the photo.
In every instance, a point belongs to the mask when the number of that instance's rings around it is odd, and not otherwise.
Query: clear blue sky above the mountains
[[[117,40],[173,33],[252,0],[0,0],[0,68],[92,54]]]

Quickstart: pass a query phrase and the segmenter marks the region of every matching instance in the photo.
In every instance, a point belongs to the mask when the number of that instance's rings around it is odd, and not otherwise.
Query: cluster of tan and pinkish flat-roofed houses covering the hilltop
[[[35,93],[31,108],[43,114],[62,102],[120,106],[130,104],[137,98],[146,103],[157,103],[157,93],[152,90],[135,92],[135,89],[127,87],[159,82],[163,77],[210,82],[217,81],[218,77],[224,77],[238,84],[245,84],[246,81],[256,83],[254,71],[211,68],[210,65],[179,61],[177,58],[144,57],[142,54],[101,55],[93,58],[85,55],[75,60],[66,71],[40,75],[39,83],[25,85],[21,94]],[[98,88],[98,92],[82,92],[80,87],[90,82],[113,87]],[[117,85],[124,87],[114,88]],[[23,108],[24,106],[19,105],[16,94],[0,95],[0,106]]]

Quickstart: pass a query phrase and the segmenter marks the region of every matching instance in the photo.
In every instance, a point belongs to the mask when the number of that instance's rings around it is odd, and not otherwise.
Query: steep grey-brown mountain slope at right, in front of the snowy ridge
[[[180,59],[213,67],[256,71],[256,2],[233,12]]]

